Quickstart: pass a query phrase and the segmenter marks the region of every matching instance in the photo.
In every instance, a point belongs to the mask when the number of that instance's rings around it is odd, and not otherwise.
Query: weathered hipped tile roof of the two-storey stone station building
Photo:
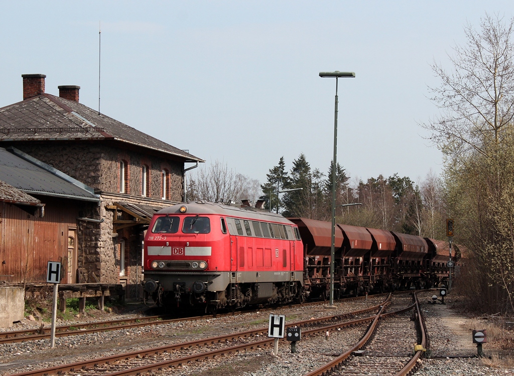
[[[114,139],[204,162],[79,102],[42,94],[0,108],[0,140]]]

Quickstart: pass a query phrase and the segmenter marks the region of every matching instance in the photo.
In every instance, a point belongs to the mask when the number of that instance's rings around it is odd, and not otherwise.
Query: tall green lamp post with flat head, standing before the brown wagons
[[[332,243],[330,247],[330,305],[334,305],[334,248],[336,240],[336,174],[337,174],[337,80],[338,78],[355,77],[354,72],[320,72],[320,77],[336,78],[336,100],[334,110],[334,158],[332,168]]]

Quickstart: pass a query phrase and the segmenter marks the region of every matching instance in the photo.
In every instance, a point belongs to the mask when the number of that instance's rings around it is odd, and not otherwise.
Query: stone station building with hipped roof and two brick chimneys
[[[154,212],[182,202],[185,164],[204,160],[79,103],[79,86],[59,86],[57,97],[45,93],[45,75],[22,77],[23,101],[0,108],[0,147],[100,197],[81,205],[76,219],[72,282],[122,283],[126,297],[140,297],[144,231]]]

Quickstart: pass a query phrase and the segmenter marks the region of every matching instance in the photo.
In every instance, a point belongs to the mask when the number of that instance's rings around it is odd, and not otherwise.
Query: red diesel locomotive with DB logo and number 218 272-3
[[[160,210],[144,240],[144,290],[177,306],[243,307],[300,300],[298,226],[250,206],[198,201]]]

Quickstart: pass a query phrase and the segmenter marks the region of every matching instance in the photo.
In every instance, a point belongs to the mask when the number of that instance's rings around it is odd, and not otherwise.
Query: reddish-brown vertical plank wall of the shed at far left
[[[79,203],[38,196],[43,218],[0,202],[0,281],[46,282],[48,261],[61,261],[66,278],[68,227],[77,227]]]

